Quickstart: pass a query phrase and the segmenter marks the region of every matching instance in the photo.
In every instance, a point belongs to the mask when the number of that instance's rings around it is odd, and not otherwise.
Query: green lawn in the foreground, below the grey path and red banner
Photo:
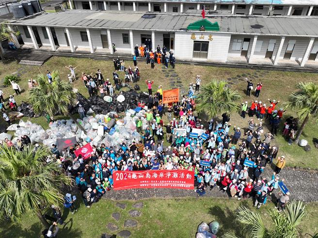
[[[146,199],[143,202],[143,208],[139,209],[142,214],[140,217],[133,218],[138,222],[136,228],[128,228],[132,238],[193,238],[198,225],[201,222],[218,221],[221,229],[218,237],[222,237],[225,232],[234,232],[240,238],[243,238],[241,229],[233,222],[235,210],[238,206],[248,206],[252,210],[252,200],[238,202],[234,199],[211,199],[211,198],[181,198],[181,199]],[[127,207],[122,210],[117,207],[115,201],[101,200],[90,208],[82,204],[78,212],[74,215],[68,210],[64,211],[66,224],[59,226],[58,237],[68,238],[100,238],[101,234],[116,234],[124,227],[124,221],[131,219],[128,211],[133,208],[134,201],[121,201]],[[269,227],[271,219],[268,209],[274,205],[268,202],[258,211],[265,224]],[[306,210],[308,216],[303,220],[301,227],[303,234],[314,234],[318,224],[317,204],[307,204]],[[111,214],[120,212],[121,217],[116,222]],[[119,228],[111,232],[107,224],[113,222]],[[2,222],[0,223],[1,238],[31,238],[40,237],[43,230],[36,216],[26,215],[18,225]],[[309,236],[304,236],[309,237]]]

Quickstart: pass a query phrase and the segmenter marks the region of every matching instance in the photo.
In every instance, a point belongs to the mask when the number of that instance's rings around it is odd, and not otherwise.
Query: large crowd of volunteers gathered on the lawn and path
[[[167,49],[163,46],[162,52],[157,47],[154,53],[149,45],[136,46],[135,57],[146,57],[147,63],[152,63],[152,59],[157,59],[160,64],[160,58],[166,62]],[[157,55],[157,56],[156,56]],[[170,57],[174,57],[170,53]],[[134,59],[136,59],[134,58]],[[148,62],[148,59],[150,60]],[[135,69],[129,66],[126,68],[125,61],[118,59],[113,60],[115,71],[113,72],[113,86],[109,79],[104,79],[101,71],[98,69],[95,74],[82,73],[81,79],[87,88],[89,95],[93,96],[100,93],[104,95],[113,95],[114,89],[120,89],[122,81],[117,74],[118,71],[125,72],[125,82],[138,81],[140,72],[135,64]],[[170,59],[171,63],[171,59]],[[167,66],[167,65],[166,65]],[[70,83],[76,79],[75,68],[66,66],[70,69],[68,75]],[[174,67],[174,63],[173,63]],[[50,72],[47,73],[48,81],[52,81]],[[247,95],[250,95],[253,89],[252,80],[248,81]],[[36,83],[33,82],[32,83]],[[207,190],[221,190],[226,192],[229,197],[237,199],[252,198],[254,206],[260,208],[274,190],[277,190],[280,171],[286,165],[285,156],[278,156],[279,148],[272,145],[272,139],[278,133],[278,128],[285,112],[282,108],[277,109],[279,101],[269,100],[269,106],[261,101],[254,100],[249,104],[247,101],[242,103],[241,117],[245,118],[246,114],[249,120],[246,125],[246,131],[240,127],[234,126],[232,129],[230,115],[225,112],[222,114],[222,120],[209,120],[207,125],[199,118],[196,110],[195,93],[199,92],[201,77],[198,75],[195,83],[189,85],[188,95],[183,95],[179,102],[164,105],[162,102],[162,86],[153,91],[152,80],[145,80],[147,85],[149,100],[147,110],[143,116],[136,120],[136,130],[141,134],[140,141],[133,141],[131,144],[113,144],[106,146],[93,145],[94,153],[89,159],[83,159],[81,155],[75,155],[75,150],[82,146],[77,143],[65,152],[57,149],[55,144],[52,145],[51,151],[55,159],[61,163],[65,173],[75,179],[78,186],[82,201],[86,207],[92,206],[93,203],[113,188],[113,171],[144,171],[144,170],[190,170],[194,171],[194,186],[198,196],[204,196]],[[14,86],[14,85],[13,85]],[[263,84],[258,83],[255,93],[259,97]],[[5,108],[3,106],[2,91],[0,98],[3,112],[3,118],[6,120]],[[11,99],[10,99],[11,98]],[[13,96],[9,101],[15,104]],[[79,113],[81,118],[85,114]],[[167,119],[163,119],[164,115]],[[256,116],[258,125],[254,122]],[[146,119],[147,125],[144,127],[142,117]],[[268,120],[270,132],[265,133],[266,128],[263,126],[263,120]],[[7,121],[7,120],[6,120]],[[10,120],[8,122],[10,124]],[[294,118],[289,117],[284,123],[283,135],[288,138],[291,133],[294,135],[297,131],[297,122]],[[146,129],[143,129],[146,128]],[[184,130],[179,130],[184,129]],[[193,129],[200,131],[198,136],[191,136]],[[201,137],[206,134],[207,138]],[[169,145],[164,146],[164,141]],[[291,143],[292,141],[289,140]],[[8,146],[15,146],[6,138]],[[31,143],[30,138],[23,137],[18,140],[17,149]],[[209,166],[202,161],[208,162]],[[247,165],[246,161],[250,161]],[[275,169],[270,179],[262,176],[265,170],[270,169],[274,163]],[[64,198],[64,206],[74,213],[77,208],[74,205],[76,196],[67,193]],[[286,202],[289,200],[289,192],[281,194],[278,199],[278,209],[284,209]],[[51,207],[54,215],[54,222],[62,222],[61,214]],[[51,234],[51,230],[48,233]],[[48,236],[47,233],[47,236]],[[48,236],[49,237],[49,236]]]

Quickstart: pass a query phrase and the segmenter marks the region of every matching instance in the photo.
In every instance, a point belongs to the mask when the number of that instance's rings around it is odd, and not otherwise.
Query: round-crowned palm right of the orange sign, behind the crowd
[[[201,93],[195,99],[196,110],[205,111],[210,118],[215,118],[224,111],[239,110],[239,92],[226,87],[225,84],[225,81],[212,79],[210,83],[202,86]]]

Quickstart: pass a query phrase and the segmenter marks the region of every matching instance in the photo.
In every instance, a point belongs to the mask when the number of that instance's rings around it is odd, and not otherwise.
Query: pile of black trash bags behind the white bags
[[[85,98],[77,93],[77,101],[85,109],[86,113],[107,114],[110,111],[123,112],[129,109],[135,109],[138,102],[148,103],[148,94],[137,93],[134,89],[127,92],[121,91],[119,95],[100,96],[94,95],[90,98]],[[68,109],[72,114],[77,113],[77,106],[70,106]]]

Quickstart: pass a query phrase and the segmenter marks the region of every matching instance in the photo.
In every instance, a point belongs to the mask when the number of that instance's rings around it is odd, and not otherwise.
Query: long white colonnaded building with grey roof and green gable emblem
[[[278,1],[293,4],[292,7],[300,2],[273,0],[273,3]],[[83,1],[70,3],[76,6],[80,2]],[[96,1],[88,2],[90,7],[98,5]],[[167,1],[171,2],[174,1]],[[231,0],[218,1],[216,9],[223,2]],[[238,2],[233,4],[237,6]],[[255,0],[244,1],[248,2],[255,7],[269,0],[259,0],[257,4]],[[108,9],[110,1],[102,3]],[[178,2],[181,3],[187,2]],[[312,15],[315,6],[309,3],[314,0],[302,1]],[[153,2],[150,4],[153,6]],[[11,18],[9,25],[21,33],[23,43],[16,41],[16,46],[31,50],[105,55],[114,54],[112,44],[115,44],[116,56],[123,56],[133,54],[136,44],[142,45],[147,39],[153,48],[165,45],[181,61],[318,67],[318,16],[307,16],[309,12],[304,16],[223,15],[218,10],[206,10],[207,17],[203,19],[197,9],[181,13],[158,13],[153,9],[151,12],[73,9]]]

